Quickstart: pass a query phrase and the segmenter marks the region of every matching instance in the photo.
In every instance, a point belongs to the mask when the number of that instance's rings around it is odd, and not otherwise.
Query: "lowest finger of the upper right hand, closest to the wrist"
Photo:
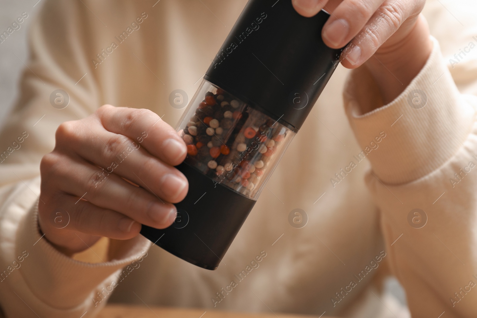
[[[343,66],[356,68],[367,61],[409,17],[413,9],[406,8],[402,0],[385,1],[363,29],[343,50]]]

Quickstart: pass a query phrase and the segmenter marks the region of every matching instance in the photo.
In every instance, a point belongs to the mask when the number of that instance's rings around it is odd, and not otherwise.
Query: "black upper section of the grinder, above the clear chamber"
[[[321,40],[329,16],[249,0],[204,78],[298,130],[339,63],[342,49]]]

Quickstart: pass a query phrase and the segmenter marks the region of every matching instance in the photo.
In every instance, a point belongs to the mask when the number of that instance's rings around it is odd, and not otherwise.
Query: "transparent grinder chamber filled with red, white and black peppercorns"
[[[239,98],[204,80],[177,126],[186,164],[215,186],[257,200],[295,135]]]

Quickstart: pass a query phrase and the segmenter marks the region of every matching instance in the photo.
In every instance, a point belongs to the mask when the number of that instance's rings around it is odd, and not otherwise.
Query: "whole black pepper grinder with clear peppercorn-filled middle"
[[[249,0],[176,127],[187,196],[174,224],[143,225],[143,236],[217,269],[340,61],[342,49],[321,40],[328,18],[303,17],[290,0]]]

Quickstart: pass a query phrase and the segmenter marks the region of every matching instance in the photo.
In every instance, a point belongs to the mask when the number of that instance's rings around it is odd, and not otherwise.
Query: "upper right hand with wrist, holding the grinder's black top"
[[[425,0],[292,0],[294,8],[311,17],[321,9],[331,16],[321,36],[326,45],[341,48],[342,64],[365,63],[384,103],[391,102],[422,69],[432,51],[421,10]],[[364,110],[370,111],[370,110]]]

